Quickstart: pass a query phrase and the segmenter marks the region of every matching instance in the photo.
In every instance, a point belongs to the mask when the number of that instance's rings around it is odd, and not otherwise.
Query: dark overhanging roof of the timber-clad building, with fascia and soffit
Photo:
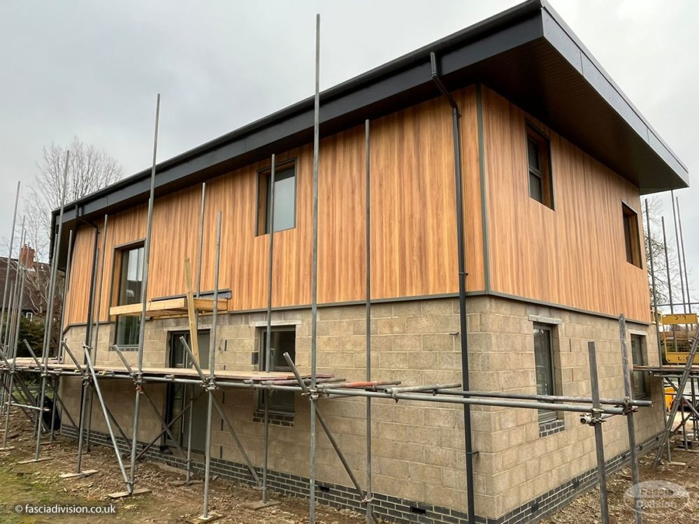
[[[326,89],[320,96],[322,136],[439,96],[431,52],[449,89],[474,82],[496,89],[642,193],[689,185],[682,161],[544,0],[521,3]],[[312,125],[313,99],[308,98],[161,162],[157,194],[308,143]],[[149,179],[150,169],[143,170],[67,205],[64,223],[147,201]]]

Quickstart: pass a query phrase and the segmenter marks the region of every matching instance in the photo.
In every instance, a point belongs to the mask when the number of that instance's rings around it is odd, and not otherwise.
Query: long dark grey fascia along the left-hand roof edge
[[[485,41],[478,41],[463,48],[445,52],[440,57],[442,75],[448,80],[450,73],[454,73],[464,66],[473,65],[493,54],[524,45],[541,36],[538,18],[530,17],[508,27],[497,35],[486,37]],[[419,90],[421,96],[413,96],[411,92],[415,92],[415,90]],[[433,86],[431,79],[428,54],[419,63],[403,68],[402,71],[394,73],[394,75],[377,79],[350,95],[339,96],[329,101],[326,101],[322,96],[320,122],[323,124],[323,136],[327,136],[337,129],[347,129],[358,125],[366,118],[377,117],[396,110],[403,104],[391,104],[391,99],[400,97],[401,94],[407,94],[414,102],[438,96],[439,93]],[[301,140],[298,140],[291,147],[303,145],[308,141],[305,134],[308,134],[308,138],[310,138],[310,133],[312,133],[312,105],[305,110],[290,113],[280,122],[271,122],[270,125],[263,126],[257,131],[252,131],[194,157],[182,158],[183,154],[159,164],[156,170],[156,191],[164,189],[184,177],[213,168],[227,160],[236,159],[241,155],[251,154],[255,151],[261,152],[264,148],[291,135],[301,136]],[[264,155],[260,154],[259,157],[264,157]],[[170,165],[168,166],[168,164]],[[236,167],[245,165],[238,164],[240,162],[233,162]],[[225,171],[223,170],[222,173]],[[110,186],[69,205],[69,208],[64,212],[64,221],[70,221],[78,216],[91,216],[120,203],[130,203],[138,196],[147,198],[149,190],[150,170],[145,170],[130,179],[122,180],[122,183]]]

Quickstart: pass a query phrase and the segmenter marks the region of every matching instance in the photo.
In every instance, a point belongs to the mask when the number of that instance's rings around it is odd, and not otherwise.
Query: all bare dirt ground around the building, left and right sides
[[[0,428],[1,430],[2,428]],[[113,450],[94,446],[83,459],[83,469],[99,470],[87,478],[62,480],[58,475],[75,470],[77,444],[72,439],[58,437],[54,444],[43,444],[42,457],[52,460],[41,463],[17,464],[20,460],[34,458],[35,440],[31,438],[29,422],[21,414],[10,420],[8,446],[10,451],[0,451],[0,522],[10,524],[40,523],[183,523],[201,515],[203,485],[171,486],[171,481],[184,478],[173,468],[155,463],[138,463],[137,488],[149,488],[151,493],[111,500],[108,493],[124,490],[124,482],[118,470]],[[16,436],[14,436],[16,435]],[[699,446],[698,448],[699,449]],[[652,468],[654,454],[642,457],[641,480],[664,480],[683,486],[689,492],[689,501],[672,514],[647,514],[644,523],[697,523],[699,524],[699,453],[674,451],[672,458],[680,465],[661,465]],[[624,497],[631,485],[630,470],[626,467],[610,477],[610,516],[612,524],[633,523],[633,506]],[[272,494],[278,506],[254,511],[245,508],[246,503],[258,502],[259,490],[233,481],[216,479],[211,482],[210,510],[224,515],[219,523],[240,524],[301,524],[308,522],[308,502],[293,497]],[[34,516],[17,514],[17,504],[85,504],[88,506],[115,504],[113,515],[89,516]],[[317,521],[323,524],[359,524],[362,515],[347,510],[319,506]],[[599,490],[592,490],[568,507],[541,521],[542,524],[597,524],[599,523]]]

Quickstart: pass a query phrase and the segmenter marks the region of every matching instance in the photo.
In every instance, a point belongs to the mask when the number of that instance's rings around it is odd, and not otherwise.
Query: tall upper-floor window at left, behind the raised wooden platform
[[[117,305],[140,303],[143,284],[143,245],[117,251],[115,270],[118,271]],[[138,345],[140,316],[117,316],[116,328],[117,346]]]

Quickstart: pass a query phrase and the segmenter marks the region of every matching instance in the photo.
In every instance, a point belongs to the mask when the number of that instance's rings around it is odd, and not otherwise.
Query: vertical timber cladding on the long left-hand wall
[[[468,290],[484,289],[475,87],[455,93],[463,133],[463,198]],[[449,105],[434,99],[371,124],[373,298],[456,293],[454,156]],[[312,145],[278,154],[296,159],[296,227],[275,233],[273,304],[310,303]],[[319,181],[319,302],[364,298],[364,131],[324,138]],[[261,161],[206,184],[201,289],[213,287],[215,217],[223,212],[220,286],[230,310],[265,307],[268,235],[255,235]],[[157,198],[153,214],[149,298],[185,291],[183,259],[196,278],[201,185]],[[101,293],[101,320],[113,296],[115,248],[145,237],[146,204],[113,214]],[[101,227],[101,220],[99,221]],[[82,226],[73,258],[68,323],[87,318],[92,231]],[[101,242],[99,243],[101,247]],[[99,281],[99,278],[98,278]],[[196,284],[195,284],[196,285]]]

